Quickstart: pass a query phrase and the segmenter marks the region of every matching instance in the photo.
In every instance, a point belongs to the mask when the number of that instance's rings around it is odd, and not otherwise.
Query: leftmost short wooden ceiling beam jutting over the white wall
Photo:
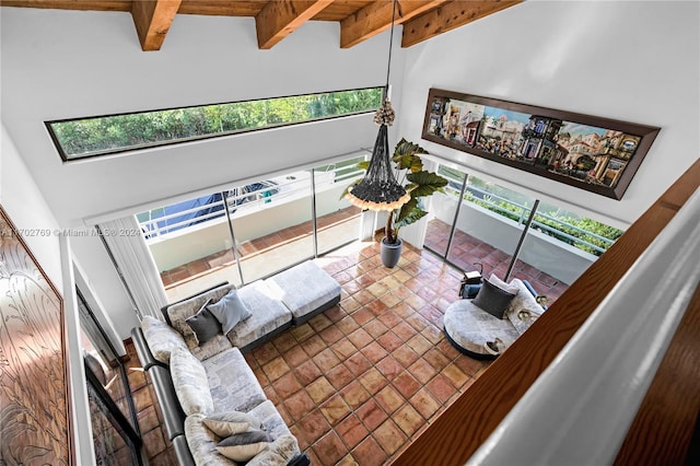
[[[183,0],[133,0],[131,16],[143,51],[160,50]]]

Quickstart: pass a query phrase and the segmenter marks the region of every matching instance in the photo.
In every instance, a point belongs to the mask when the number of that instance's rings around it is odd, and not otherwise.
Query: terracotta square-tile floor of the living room
[[[386,464],[487,366],[442,333],[460,272],[410,245],[387,269],[376,243],[343,247],[319,264],[341,283],[340,304],[246,360],[312,464]],[[153,388],[127,345],[149,462],[175,465]]]

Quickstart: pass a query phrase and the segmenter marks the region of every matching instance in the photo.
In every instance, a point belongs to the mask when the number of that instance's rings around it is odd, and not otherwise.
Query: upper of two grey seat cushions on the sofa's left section
[[[202,361],[202,364],[207,371],[207,385],[214,412],[248,412],[267,399],[260,383],[237,348],[215,354]]]

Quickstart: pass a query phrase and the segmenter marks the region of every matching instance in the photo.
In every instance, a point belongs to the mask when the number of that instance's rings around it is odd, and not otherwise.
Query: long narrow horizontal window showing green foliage
[[[49,121],[65,161],[375,110],[382,88]]]

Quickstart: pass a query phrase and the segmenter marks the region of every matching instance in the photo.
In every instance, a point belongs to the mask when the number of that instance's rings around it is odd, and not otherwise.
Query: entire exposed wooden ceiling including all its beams
[[[396,0],[410,47],[523,0]],[[131,12],[143,50],[159,50],[175,14],[254,16],[258,47],[273,47],[306,21],[340,22],[349,48],[392,26],[393,0],[0,0],[0,7]]]

